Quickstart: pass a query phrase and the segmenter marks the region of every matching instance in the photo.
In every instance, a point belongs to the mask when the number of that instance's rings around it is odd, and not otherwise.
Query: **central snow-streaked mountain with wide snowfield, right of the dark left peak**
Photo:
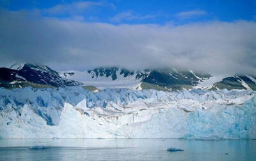
[[[65,71],[61,72],[60,75],[97,88],[126,87],[167,91],[191,89],[211,77],[211,74],[207,73],[191,70],[181,71],[173,68],[132,71],[120,67],[99,67],[84,72]]]

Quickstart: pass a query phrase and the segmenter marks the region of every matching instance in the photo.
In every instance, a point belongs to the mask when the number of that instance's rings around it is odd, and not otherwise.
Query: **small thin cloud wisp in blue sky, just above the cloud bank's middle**
[[[159,13],[154,15],[134,15],[132,11],[125,11],[118,13],[114,17],[110,18],[111,22],[121,22],[122,20],[130,21],[130,20],[145,20],[145,19],[152,19],[159,16],[163,16]]]

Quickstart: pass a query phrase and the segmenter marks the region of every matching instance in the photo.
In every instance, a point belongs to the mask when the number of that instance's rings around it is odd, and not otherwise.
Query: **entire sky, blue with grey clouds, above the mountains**
[[[255,8],[255,0],[0,0],[0,64],[256,75]]]

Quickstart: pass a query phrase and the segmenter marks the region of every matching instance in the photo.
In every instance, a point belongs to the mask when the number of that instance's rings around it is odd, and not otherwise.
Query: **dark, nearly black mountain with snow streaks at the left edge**
[[[68,80],[47,66],[37,64],[13,64],[10,68],[0,67],[0,87],[66,87],[82,83]]]

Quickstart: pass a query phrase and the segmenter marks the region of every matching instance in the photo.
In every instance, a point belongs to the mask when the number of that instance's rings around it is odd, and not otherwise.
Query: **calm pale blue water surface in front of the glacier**
[[[47,148],[29,149],[36,145]],[[256,141],[0,139],[0,160],[256,160]]]

